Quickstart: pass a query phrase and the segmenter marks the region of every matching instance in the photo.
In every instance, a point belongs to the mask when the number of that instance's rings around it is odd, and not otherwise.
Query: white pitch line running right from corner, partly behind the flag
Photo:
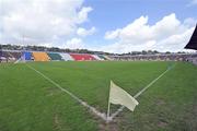
[[[151,85],[153,85],[160,78],[162,78],[166,72],[169,72],[173,67],[169,68],[167,70],[165,70],[162,74],[160,74],[157,79],[154,79],[151,83],[149,83],[146,87],[143,87],[140,92],[138,92],[134,97],[137,98],[138,96],[140,96],[146,90],[148,90]],[[112,121],[119,112],[123,111],[123,109],[125,108],[125,106],[119,107],[114,114],[112,114],[112,116],[109,117],[109,121]]]

